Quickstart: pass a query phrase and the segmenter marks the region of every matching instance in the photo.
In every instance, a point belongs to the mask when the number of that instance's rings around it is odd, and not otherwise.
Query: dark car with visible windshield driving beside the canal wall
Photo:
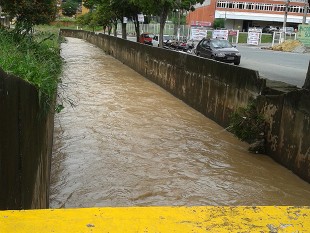
[[[240,64],[241,54],[224,39],[202,39],[195,49],[197,56],[211,58],[217,61]]]

